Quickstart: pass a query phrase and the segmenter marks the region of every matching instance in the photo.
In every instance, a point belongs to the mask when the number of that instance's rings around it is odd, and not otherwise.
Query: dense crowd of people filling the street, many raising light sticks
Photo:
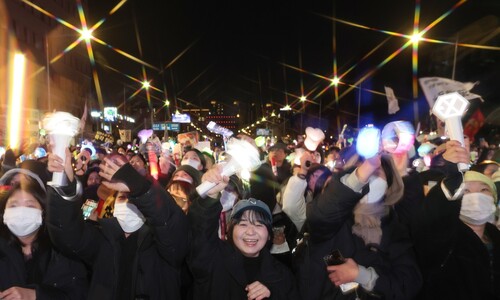
[[[308,130],[232,137],[262,162],[230,176],[243,154],[189,144],[154,161],[144,145],[8,150],[0,299],[500,299],[498,145],[367,156]]]

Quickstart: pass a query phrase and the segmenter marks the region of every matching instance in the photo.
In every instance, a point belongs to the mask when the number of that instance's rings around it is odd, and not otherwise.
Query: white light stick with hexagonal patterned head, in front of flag
[[[457,92],[439,96],[432,107],[432,113],[444,121],[450,140],[459,141],[463,147],[465,143],[462,116],[468,107],[469,101]],[[469,165],[458,163],[458,170],[465,172],[469,170]]]

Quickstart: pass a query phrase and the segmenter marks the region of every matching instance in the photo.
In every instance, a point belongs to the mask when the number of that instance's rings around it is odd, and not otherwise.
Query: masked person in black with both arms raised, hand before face
[[[96,226],[80,217],[81,184],[68,164],[51,153],[48,167],[68,177],[67,186],[49,188],[49,233],[62,251],[92,269],[88,299],[180,299],[188,223],[170,194],[121,157],[107,157],[100,166],[102,184],[128,193],[128,199],[117,198],[113,218]]]

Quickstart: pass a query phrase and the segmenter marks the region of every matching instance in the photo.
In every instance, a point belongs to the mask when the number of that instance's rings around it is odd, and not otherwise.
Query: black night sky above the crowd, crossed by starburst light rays
[[[422,0],[420,29],[457,2]],[[90,0],[86,12],[90,23],[105,17],[117,3]],[[207,107],[211,100],[217,100],[230,110],[234,101],[239,101],[241,109],[257,107],[259,114],[267,103],[288,102],[295,105],[295,110],[303,109],[298,98],[307,95],[306,115],[318,115],[321,111],[322,117],[334,119],[339,114],[343,123],[356,122],[360,101],[363,125],[391,119],[413,120],[411,46],[376,68],[407,39],[334,22],[331,18],[411,34],[414,14],[415,2],[401,0],[129,0],[94,34],[156,66],[157,70],[145,68],[151,84],[163,91],[151,91],[153,107],[161,107],[165,97],[180,108]],[[497,0],[466,1],[425,37],[454,42],[459,31],[488,15],[495,16],[493,23],[470,30],[466,36],[458,36],[458,40],[474,44],[481,40],[483,45],[498,47],[498,32],[483,36],[493,28],[498,30]],[[376,50],[362,59],[373,49]],[[420,43],[418,77],[451,78],[454,49],[453,45]],[[124,86],[126,98],[139,88],[138,83],[123,74],[141,79],[141,65],[102,46],[95,46],[94,50],[105,102],[122,102]],[[339,95],[343,96],[338,105],[327,80],[332,77],[335,58],[339,75],[352,68],[341,82],[353,85],[373,72],[361,82],[361,93],[358,89],[346,92],[348,86],[339,85]],[[473,92],[486,100],[484,105],[494,106],[500,102],[499,67],[499,51],[458,47],[455,80],[480,81]],[[387,115],[385,96],[367,91],[383,92],[384,85],[392,87],[400,98],[401,111],[396,115]],[[417,101],[420,118],[425,119],[429,108],[421,91]],[[127,105],[146,108],[146,93],[128,99]]]

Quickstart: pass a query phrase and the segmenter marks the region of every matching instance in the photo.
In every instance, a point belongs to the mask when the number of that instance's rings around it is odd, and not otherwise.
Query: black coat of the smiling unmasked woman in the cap
[[[194,276],[193,299],[247,299],[243,255],[217,235],[222,206],[217,199],[196,199],[189,207],[193,243],[188,265]],[[264,247],[258,281],[271,292],[269,299],[295,300],[299,293],[292,273]]]

